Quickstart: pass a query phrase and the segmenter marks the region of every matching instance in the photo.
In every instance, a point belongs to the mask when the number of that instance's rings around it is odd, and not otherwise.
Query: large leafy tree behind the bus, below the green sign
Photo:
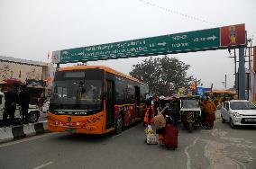
[[[187,76],[189,65],[178,60],[178,58],[146,58],[142,63],[133,65],[130,72],[144,83],[149,84],[151,93],[160,95],[171,95],[178,92],[178,88],[189,86],[194,80],[193,76]]]

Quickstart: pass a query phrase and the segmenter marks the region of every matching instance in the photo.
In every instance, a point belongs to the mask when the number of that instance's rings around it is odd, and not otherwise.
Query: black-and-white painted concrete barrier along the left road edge
[[[47,120],[14,127],[0,128],[0,143],[47,132]]]

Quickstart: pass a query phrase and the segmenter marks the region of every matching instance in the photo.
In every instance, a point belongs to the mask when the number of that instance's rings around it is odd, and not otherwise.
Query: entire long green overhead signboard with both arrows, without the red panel
[[[133,58],[220,47],[220,28],[54,51],[53,63]]]

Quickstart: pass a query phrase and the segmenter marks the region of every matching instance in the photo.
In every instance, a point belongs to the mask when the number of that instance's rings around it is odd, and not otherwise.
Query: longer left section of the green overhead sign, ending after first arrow
[[[64,49],[53,53],[60,63],[104,60],[113,58],[133,58],[168,52],[169,36],[159,36],[139,40],[127,40],[78,49]]]

